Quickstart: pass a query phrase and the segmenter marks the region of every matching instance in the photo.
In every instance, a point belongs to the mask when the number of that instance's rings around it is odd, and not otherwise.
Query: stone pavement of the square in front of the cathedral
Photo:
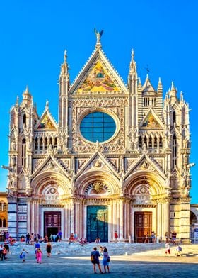
[[[101,243],[102,245],[102,243]],[[103,274],[105,277],[146,277],[146,278],[197,278],[198,277],[198,257],[194,252],[192,255],[182,257],[155,255],[159,248],[164,251],[163,245],[153,247],[153,255],[142,255],[144,248],[152,248],[152,245],[134,245],[125,243],[115,245],[115,243],[105,243],[108,250],[111,250],[110,274]],[[42,245],[42,264],[37,264],[35,260],[35,248],[33,246],[18,244],[11,247],[11,254],[8,260],[0,262],[0,272],[4,278],[25,278],[25,277],[100,277],[101,274],[93,274],[93,265],[90,262],[90,253],[95,244],[86,246],[68,245],[68,243],[54,243],[52,257],[48,258],[45,252],[45,244]],[[19,259],[21,249],[25,247],[29,255],[22,263]],[[141,249],[140,254],[134,252],[131,255],[130,248]],[[192,248],[197,250],[197,245]],[[72,252],[71,252],[72,250]],[[112,252],[114,250],[114,252]],[[125,255],[127,253],[130,255]],[[184,248],[183,248],[184,250]],[[120,255],[122,251],[122,255]],[[70,252],[70,255],[68,254]],[[72,253],[72,254],[71,254]],[[124,253],[124,254],[123,254]],[[146,254],[146,253],[145,253]]]

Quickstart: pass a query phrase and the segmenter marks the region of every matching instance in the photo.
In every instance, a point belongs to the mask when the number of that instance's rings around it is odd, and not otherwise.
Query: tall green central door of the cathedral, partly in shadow
[[[107,206],[87,206],[87,240],[108,241],[108,209]]]

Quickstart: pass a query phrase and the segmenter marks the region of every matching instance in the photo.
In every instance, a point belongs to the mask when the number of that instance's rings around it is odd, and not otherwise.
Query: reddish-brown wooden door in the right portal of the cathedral
[[[146,233],[151,236],[152,212],[135,212],[134,216],[134,241],[143,243]]]

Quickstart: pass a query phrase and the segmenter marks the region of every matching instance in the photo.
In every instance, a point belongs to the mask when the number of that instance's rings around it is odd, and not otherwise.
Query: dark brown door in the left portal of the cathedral
[[[61,212],[45,211],[44,212],[44,236],[57,235],[61,230]]]

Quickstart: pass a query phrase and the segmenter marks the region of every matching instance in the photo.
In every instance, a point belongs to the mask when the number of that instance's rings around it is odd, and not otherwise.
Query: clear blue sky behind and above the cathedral
[[[121,5],[122,4],[122,5]],[[93,29],[104,30],[105,54],[127,82],[134,48],[141,82],[146,67],[154,87],[158,77],[163,93],[173,81],[190,104],[192,134],[192,203],[198,203],[197,150],[197,0],[64,1],[16,0],[0,3],[0,164],[8,165],[9,110],[22,99],[29,85],[38,113],[46,99],[57,120],[58,77],[64,50],[71,81],[95,47]],[[0,169],[0,191],[6,190],[5,169]]]

